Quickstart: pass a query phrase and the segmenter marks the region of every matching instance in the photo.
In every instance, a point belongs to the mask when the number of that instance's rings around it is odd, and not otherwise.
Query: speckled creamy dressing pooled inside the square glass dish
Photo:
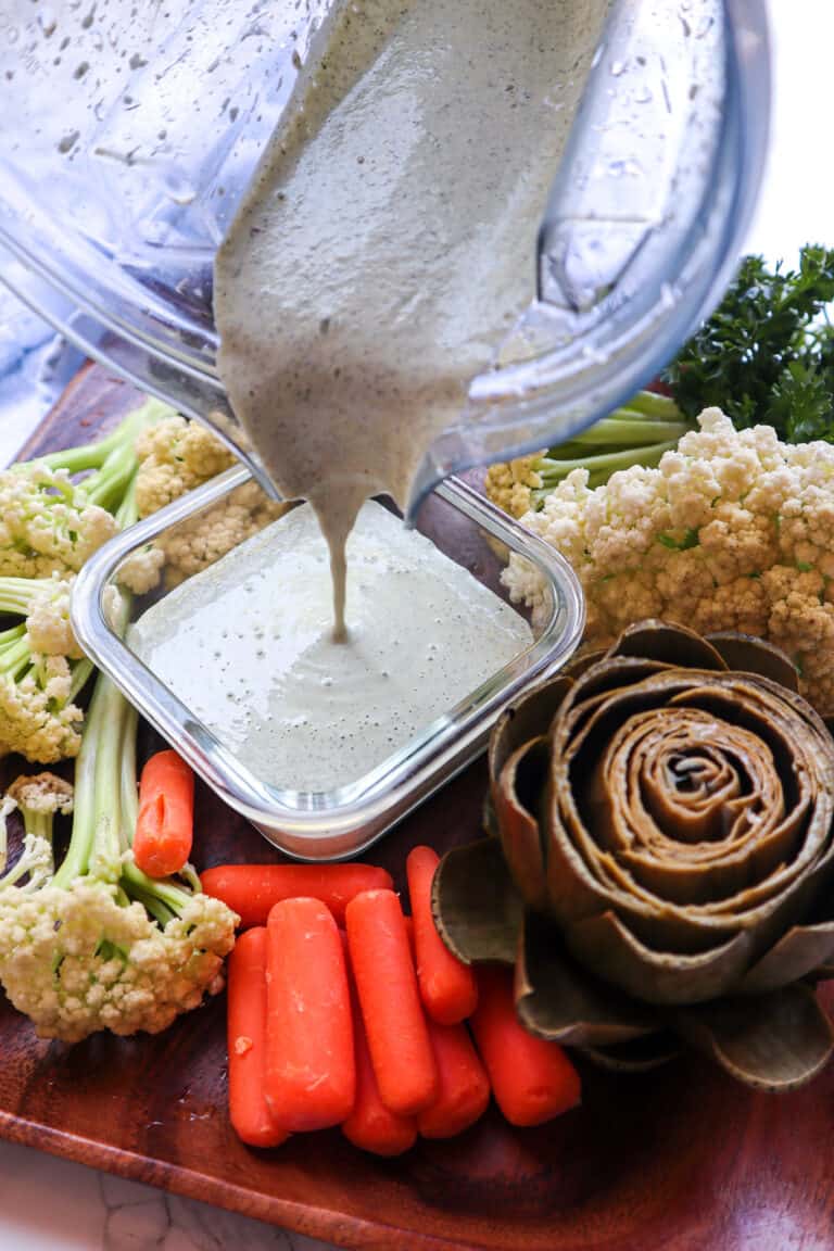
[[[405,747],[533,642],[526,622],[380,504],[348,540],[350,646],[333,639],[309,505],[149,608],[130,643],[264,782],[330,791]]]

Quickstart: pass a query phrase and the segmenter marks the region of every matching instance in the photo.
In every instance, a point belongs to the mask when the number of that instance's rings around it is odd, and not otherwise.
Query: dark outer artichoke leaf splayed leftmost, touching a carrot
[[[438,864],[431,912],[446,947],[465,963],[515,963],[524,904],[494,838],[453,847]]]

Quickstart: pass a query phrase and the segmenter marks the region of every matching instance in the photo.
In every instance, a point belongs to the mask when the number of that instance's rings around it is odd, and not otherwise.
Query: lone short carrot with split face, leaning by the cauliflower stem
[[[141,771],[134,834],[136,867],[149,877],[179,873],[194,838],[194,773],[176,752],[156,752]]]

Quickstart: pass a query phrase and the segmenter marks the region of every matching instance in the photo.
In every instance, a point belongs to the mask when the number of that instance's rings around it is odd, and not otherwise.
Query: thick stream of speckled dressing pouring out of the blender
[[[363,500],[405,505],[534,295],[606,9],[344,3],[219,250],[220,374],[280,492],[319,515],[340,637]]]

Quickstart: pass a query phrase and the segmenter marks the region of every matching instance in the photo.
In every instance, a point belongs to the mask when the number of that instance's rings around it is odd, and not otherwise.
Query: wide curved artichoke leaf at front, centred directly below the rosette
[[[586,968],[648,1003],[700,1003],[725,995],[750,963],[753,941],[740,931],[696,955],[645,946],[613,912],[565,927],[568,948]]]

